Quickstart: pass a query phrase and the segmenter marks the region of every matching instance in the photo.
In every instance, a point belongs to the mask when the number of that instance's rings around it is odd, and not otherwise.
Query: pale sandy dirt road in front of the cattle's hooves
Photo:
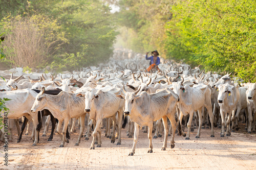
[[[111,143],[103,131],[102,147],[95,150],[89,149],[92,137],[88,141],[82,138],[79,147],[75,147],[78,133],[71,135],[65,148],[59,148],[57,135],[53,141],[47,141],[50,131],[47,137],[40,136],[37,146],[32,146],[31,135],[24,135],[20,143],[8,145],[8,168],[1,149],[0,169],[256,169],[255,133],[240,130],[221,138],[220,129],[215,128],[214,138],[210,137],[209,129],[202,130],[199,139],[195,138],[196,132],[191,133],[190,140],[175,135],[175,148],[170,149],[168,137],[166,151],[161,151],[163,137],[160,137],[153,139],[153,153],[147,153],[147,134],[140,130],[135,155],[128,156],[133,138],[126,137],[126,130],[122,130],[121,145]]]

